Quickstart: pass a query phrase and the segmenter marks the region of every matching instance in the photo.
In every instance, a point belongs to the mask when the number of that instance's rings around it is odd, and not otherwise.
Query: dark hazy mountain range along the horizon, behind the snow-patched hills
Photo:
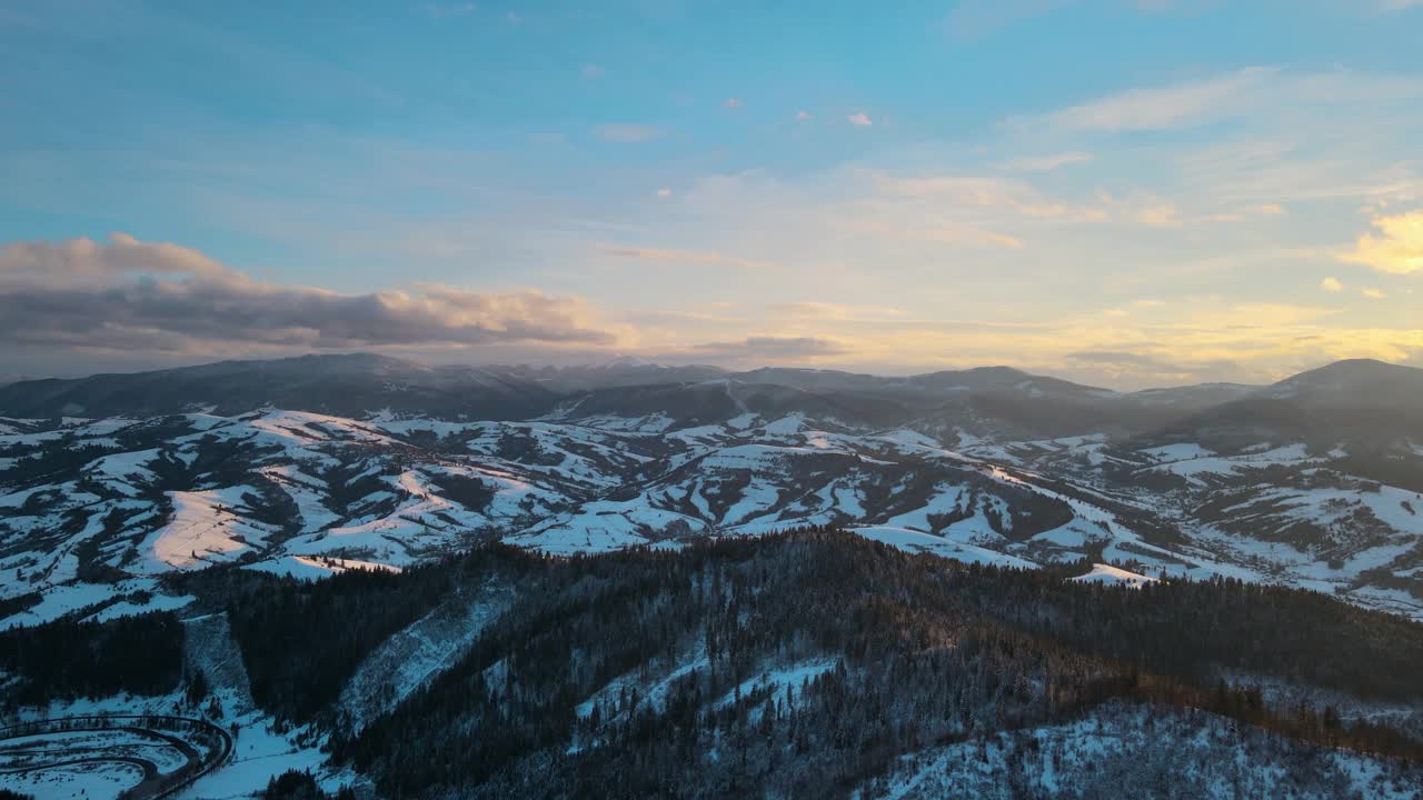
[[[1416,434],[1423,370],[1346,360],[1271,386],[1200,384],[1111,391],[979,367],[908,377],[767,367],[662,366],[635,359],[581,367],[427,366],[374,354],[303,356],[0,386],[20,419],[219,416],[259,409],[364,419],[532,420],[665,416],[679,424],[801,413],[857,427],[908,426],[995,440],[1107,434],[1214,440],[1331,436],[1386,444]],[[1254,437],[1254,438],[1252,438]],[[1251,441],[1245,441],[1251,440]]]

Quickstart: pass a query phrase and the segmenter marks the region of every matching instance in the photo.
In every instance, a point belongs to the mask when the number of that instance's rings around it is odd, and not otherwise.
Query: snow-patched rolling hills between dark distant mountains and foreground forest
[[[933,426],[766,413],[744,387],[703,389],[734,413],[10,421],[0,574],[13,579],[0,599],[40,592],[47,605],[21,612],[33,619],[77,608],[71,586],[101,602],[124,575],[218,562],[320,578],[492,538],[571,555],[844,525],[962,561],[1100,551],[1150,575],[1285,582],[1423,618],[1423,494],[1352,474],[1346,444],[939,438]],[[1423,464],[1412,446],[1390,458]]]

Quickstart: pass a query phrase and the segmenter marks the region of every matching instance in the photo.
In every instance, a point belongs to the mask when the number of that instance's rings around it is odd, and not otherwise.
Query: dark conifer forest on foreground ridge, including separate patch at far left
[[[1123,703],[1148,719],[1222,715],[1299,757],[1423,763],[1414,733],[1272,706],[1254,683],[1419,707],[1423,625],[1228,579],[1064,579],[1084,567],[963,565],[813,528],[573,558],[494,544],[319,582],[240,568],[169,581],[229,616],[260,706],[329,732],[337,763],[396,797],[847,796],[908,754]],[[490,584],[512,605],[448,670],[364,727],[346,719],[336,700],[381,642]],[[108,660],[101,683],[36,662],[37,645],[102,653],[121,635],[157,646]],[[155,614],[4,643],[28,700],[158,693],[178,673],[149,659],[181,663],[182,631]]]

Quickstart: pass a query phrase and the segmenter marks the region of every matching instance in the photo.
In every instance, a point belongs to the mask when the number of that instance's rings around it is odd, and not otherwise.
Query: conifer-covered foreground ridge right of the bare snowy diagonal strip
[[[337,757],[393,794],[837,796],[905,753],[1110,699],[1423,759],[1397,732],[1269,709],[1258,689],[1212,678],[1244,668],[1423,699],[1410,666],[1423,626],[1309,592],[1083,585],[832,530],[679,554],[480,558],[522,572],[517,611],[427,690],[336,740]],[[821,659],[834,666],[804,686],[754,690],[763,670]],[[599,693],[629,673],[633,688]],[[639,696],[659,680],[659,698]]]

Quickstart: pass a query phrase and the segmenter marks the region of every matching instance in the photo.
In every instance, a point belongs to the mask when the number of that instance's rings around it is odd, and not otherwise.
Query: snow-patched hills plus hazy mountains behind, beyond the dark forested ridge
[[[1423,618],[1423,428],[1400,394],[1423,370],[1349,362],[1170,399],[1006,367],[712,370],[323,356],[0,389],[0,599],[24,598],[0,625],[219,562],[322,574],[490,540],[575,554],[810,524]],[[672,380],[628,383],[646,374]]]

